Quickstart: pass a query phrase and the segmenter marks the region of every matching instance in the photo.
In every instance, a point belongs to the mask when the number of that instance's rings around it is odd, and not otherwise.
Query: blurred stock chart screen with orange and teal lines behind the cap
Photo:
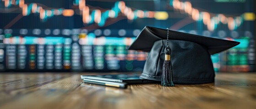
[[[126,49],[154,26],[239,41],[215,71],[255,71],[255,18],[255,0],[0,0],[0,70],[142,71]]]

